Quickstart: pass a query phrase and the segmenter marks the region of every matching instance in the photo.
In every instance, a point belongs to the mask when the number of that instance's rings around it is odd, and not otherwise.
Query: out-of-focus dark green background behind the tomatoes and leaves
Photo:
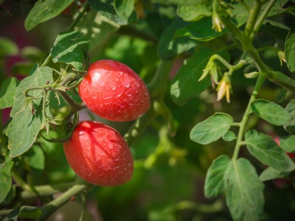
[[[15,43],[16,51],[12,55],[0,58],[0,81],[11,76],[20,79],[26,76],[33,62],[38,61],[53,46],[57,34],[65,30],[71,23],[70,14],[62,14],[34,31],[27,32],[24,20],[34,1],[6,1],[3,7],[9,9],[11,15],[0,15],[0,37],[10,39]],[[149,4],[149,1],[143,4]],[[139,7],[139,6],[138,6]],[[140,10],[140,7],[139,9]],[[138,11],[139,12],[139,11]],[[99,34],[92,34],[93,44],[90,45],[91,62],[99,59],[115,59],[125,63],[135,70],[146,83],[149,82],[159,60],[157,58],[156,41],[172,22],[176,8],[172,5],[149,5],[135,26],[128,28],[143,30],[155,40],[136,37],[130,29],[118,28],[89,11],[78,29],[90,31],[96,28]],[[290,25],[288,17],[275,17],[274,20]],[[96,21],[97,23],[95,23]],[[92,23],[91,23],[92,22]],[[89,24],[84,30],[83,23]],[[93,24],[95,23],[95,24]],[[95,25],[95,26],[94,26]],[[292,22],[291,22],[292,25]],[[84,27],[84,29],[83,29]],[[87,28],[86,28],[87,29]],[[95,32],[95,31],[94,31]],[[88,32],[90,33],[90,32]],[[220,48],[229,41],[227,36],[219,37],[207,46]],[[284,40],[273,38],[268,33],[260,35],[255,40],[257,47],[278,44],[283,48]],[[34,48],[29,48],[32,46]],[[26,51],[27,50],[27,51]],[[35,51],[34,51],[35,50]],[[198,50],[195,48],[194,50]],[[231,50],[231,60],[235,61],[240,52]],[[32,55],[32,56],[28,56]],[[272,51],[263,53],[263,59],[275,70],[287,73],[286,67],[280,66],[277,56]],[[171,79],[183,62],[183,57],[176,59],[171,71]],[[212,115],[216,111],[230,113],[236,121],[240,120],[249,99],[249,92],[254,81],[245,79],[243,71],[237,71],[232,79],[234,94],[231,103],[216,102],[216,92],[208,88],[198,98],[192,99],[184,106],[177,106],[170,97],[170,83],[167,87],[165,103],[172,110],[177,124],[177,135],[171,138],[167,134],[164,119],[159,116],[149,125],[144,134],[132,145],[131,151],[135,160],[133,179],[115,188],[95,187],[88,193],[87,216],[85,220],[93,221],[229,221],[229,211],[224,197],[208,200],[204,196],[203,187],[207,168],[213,159],[220,154],[232,154],[235,142],[219,140],[209,145],[199,145],[189,139],[192,127]],[[266,82],[259,97],[275,101],[275,93],[279,88]],[[74,93],[75,94],[75,93]],[[287,94],[285,106],[293,95]],[[54,105],[52,106],[54,107]],[[8,112],[8,110],[6,110]],[[5,113],[5,111],[4,111]],[[5,117],[5,116],[4,116]],[[110,122],[95,117],[89,111],[80,113],[80,120],[95,119],[116,128],[124,134],[131,123]],[[9,116],[2,119],[7,124]],[[286,135],[282,128],[273,127],[258,117],[250,118],[250,126],[256,126],[260,131],[273,137]],[[53,137],[58,134],[52,132]],[[25,176],[30,184],[59,184],[71,182],[75,174],[68,166],[63,154],[62,145],[49,143],[40,138],[37,145],[30,149],[19,162],[19,173]],[[251,157],[245,149],[241,156],[250,159],[258,173],[266,168]],[[43,159],[43,160],[42,160]],[[295,219],[295,192],[286,180],[268,181],[265,183],[265,213],[264,221],[293,221]],[[19,190],[16,190],[18,193]],[[42,200],[47,200],[42,199]],[[51,221],[76,221],[79,219],[81,199],[77,197],[61,207]],[[23,202],[26,205],[40,205],[40,199],[30,199]],[[19,206],[17,197],[12,205]],[[0,205],[6,208],[5,204]]]

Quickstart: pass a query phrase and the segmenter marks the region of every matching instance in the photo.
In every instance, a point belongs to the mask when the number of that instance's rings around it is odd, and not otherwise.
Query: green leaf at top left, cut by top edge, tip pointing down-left
[[[30,31],[40,23],[58,16],[74,0],[38,0],[25,20],[25,28]]]

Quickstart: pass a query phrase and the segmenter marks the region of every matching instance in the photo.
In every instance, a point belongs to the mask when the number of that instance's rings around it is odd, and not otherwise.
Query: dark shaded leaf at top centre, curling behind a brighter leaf
[[[177,18],[164,30],[157,48],[159,58],[168,59],[174,57],[200,44],[198,41],[188,38],[174,39],[173,34],[175,31],[187,24],[189,23]]]

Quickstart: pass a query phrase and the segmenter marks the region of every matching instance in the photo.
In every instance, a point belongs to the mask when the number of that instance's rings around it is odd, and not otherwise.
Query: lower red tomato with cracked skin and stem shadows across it
[[[113,128],[95,121],[82,121],[72,138],[63,143],[69,165],[85,181],[106,187],[128,182],[133,158],[124,138]]]

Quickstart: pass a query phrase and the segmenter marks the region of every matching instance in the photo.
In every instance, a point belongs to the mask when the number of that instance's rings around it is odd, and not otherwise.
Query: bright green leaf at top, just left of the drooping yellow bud
[[[187,22],[195,22],[212,15],[210,4],[178,5],[177,14]]]

